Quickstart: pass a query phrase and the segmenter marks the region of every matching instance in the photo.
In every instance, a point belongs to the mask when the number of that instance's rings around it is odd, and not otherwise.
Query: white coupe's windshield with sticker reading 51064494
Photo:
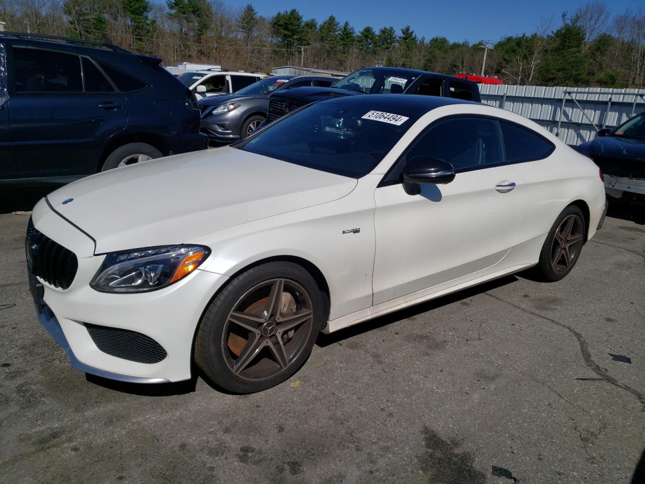
[[[372,96],[370,96],[372,97]],[[244,151],[360,178],[370,173],[421,116],[418,105],[343,97],[315,103],[234,145]]]

